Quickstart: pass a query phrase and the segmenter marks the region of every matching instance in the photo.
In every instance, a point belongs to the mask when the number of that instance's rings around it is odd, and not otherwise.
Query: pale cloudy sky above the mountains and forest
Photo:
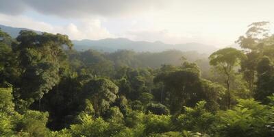
[[[273,0],[0,0],[0,24],[72,40],[129,38],[234,44],[253,22],[274,22]]]

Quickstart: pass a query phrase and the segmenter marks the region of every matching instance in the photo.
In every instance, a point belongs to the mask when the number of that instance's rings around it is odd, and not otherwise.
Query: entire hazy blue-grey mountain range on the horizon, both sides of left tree
[[[32,30],[27,28],[8,27],[0,25],[0,28],[10,34],[12,38],[16,38],[21,30]],[[41,33],[36,30],[32,30]],[[160,52],[169,49],[177,49],[180,51],[197,51],[199,53],[212,53],[217,48],[211,45],[203,45],[201,43],[191,42],[185,44],[166,44],[160,41],[133,41],[127,38],[106,38],[102,40],[73,40],[74,48],[77,51],[85,51],[88,49],[96,49],[99,51],[113,52],[119,49],[134,50],[138,52]]]

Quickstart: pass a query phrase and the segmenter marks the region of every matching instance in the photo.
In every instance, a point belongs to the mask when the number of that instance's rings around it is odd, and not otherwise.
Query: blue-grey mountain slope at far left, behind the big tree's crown
[[[9,26],[5,26],[5,25],[0,25],[0,29],[3,32],[7,32],[8,34],[10,34],[10,36],[12,36],[12,38],[16,38],[19,35],[19,32],[21,30],[30,30],[30,31],[34,31],[36,33],[41,33],[40,31],[36,31],[36,30],[32,30],[32,29],[20,28],[20,27],[9,27]]]

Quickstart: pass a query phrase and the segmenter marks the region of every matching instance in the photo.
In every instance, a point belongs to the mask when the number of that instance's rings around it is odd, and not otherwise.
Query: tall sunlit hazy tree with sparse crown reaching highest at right
[[[242,60],[241,72],[243,78],[249,84],[249,90],[253,91],[256,83],[257,64],[262,57],[262,51],[266,45],[269,45],[269,22],[262,21],[251,23],[245,36],[240,36],[236,42],[242,49],[246,49],[247,58]],[[266,42],[267,41],[267,42]],[[270,50],[273,51],[273,50]]]

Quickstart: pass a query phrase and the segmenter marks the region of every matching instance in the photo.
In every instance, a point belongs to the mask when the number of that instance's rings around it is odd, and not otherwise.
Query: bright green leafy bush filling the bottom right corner
[[[219,112],[220,136],[274,136],[274,109],[254,99],[239,99],[233,110]]]

